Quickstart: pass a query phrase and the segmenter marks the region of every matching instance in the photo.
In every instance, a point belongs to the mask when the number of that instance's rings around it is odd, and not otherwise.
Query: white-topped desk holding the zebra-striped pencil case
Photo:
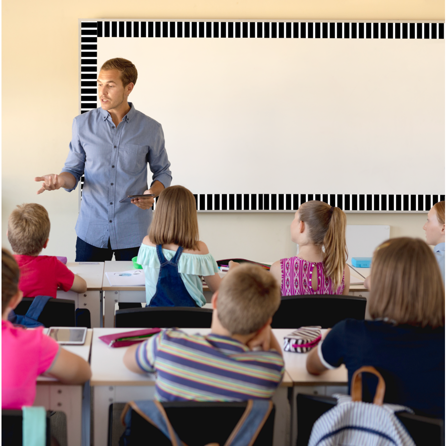
[[[295,329],[274,329],[273,332],[283,344],[283,337]],[[322,330],[324,333],[326,330]],[[311,375],[307,372],[306,362],[308,353],[283,352],[285,370],[293,381],[291,401],[291,445],[297,440],[297,408],[296,396],[298,393],[308,395],[327,395],[348,392],[348,374],[344,365],[334,370],[327,370],[322,375]]]

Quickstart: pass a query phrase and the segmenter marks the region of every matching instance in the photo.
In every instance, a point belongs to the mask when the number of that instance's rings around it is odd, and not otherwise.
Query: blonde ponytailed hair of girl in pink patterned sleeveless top
[[[312,200],[299,207],[299,220],[308,225],[312,242],[325,248],[324,271],[337,289],[342,282],[348,257],[345,242],[347,217],[339,208]]]

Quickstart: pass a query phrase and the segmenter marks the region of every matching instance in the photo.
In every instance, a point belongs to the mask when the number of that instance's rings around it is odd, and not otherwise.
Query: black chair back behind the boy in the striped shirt
[[[181,441],[188,446],[203,446],[213,442],[224,445],[243,415],[247,402],[175,401],[162,404],[167,418]],[[272,446],[275,411],[273,406],[253,446]],[[109,412],[109,429],[111,414],[112,404]],[[198,425],[197,420],[200,420]],[[191,426],[195,428],[191,429]],[[109,445],[111,438],[109,431]],[[160,430],[132,410],[130,443],[132,445],[147,444],[147,439],[150,439],[151,445],[171,446],[170,441]]]

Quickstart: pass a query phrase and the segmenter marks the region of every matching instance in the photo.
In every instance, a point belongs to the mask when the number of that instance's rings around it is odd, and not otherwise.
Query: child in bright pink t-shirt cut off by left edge
[[[14,327],[8,314],[22,299],[19,268],[12,255],[1,249],[1,408],[32,406],[39,375],[63,384],[82,384],[91,377],[90,365],[59,346],[42,328]]]

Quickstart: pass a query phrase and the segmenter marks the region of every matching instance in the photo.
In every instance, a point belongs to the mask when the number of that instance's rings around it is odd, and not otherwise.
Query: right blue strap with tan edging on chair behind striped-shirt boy
[[[224,446],[252,446],[272,410],[273,401],[270,399],[249,399]]]

